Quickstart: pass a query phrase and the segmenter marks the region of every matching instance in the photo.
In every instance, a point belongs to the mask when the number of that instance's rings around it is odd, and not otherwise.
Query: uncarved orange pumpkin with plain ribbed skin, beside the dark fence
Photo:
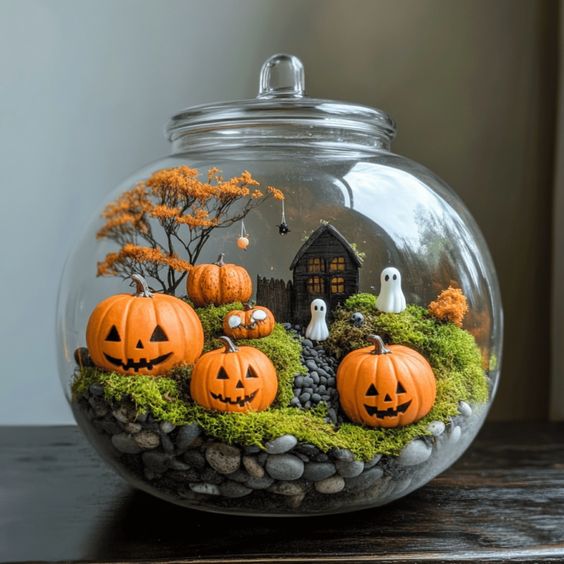
[[[223,262],[223,253],[214,264],[199,264],[188,275],[186,291],[198,307],[247,302],[253,294],[249,273],[236,264]]]

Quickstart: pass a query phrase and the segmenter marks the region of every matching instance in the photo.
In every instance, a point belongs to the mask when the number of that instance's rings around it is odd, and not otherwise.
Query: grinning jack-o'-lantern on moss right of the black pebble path
[[[427,360],[402,345],[388,348],[377,335],[374,346],[350,352],[337,369],[337,390],[351,421],[368,427],[402,427],[427,415],[437,394]]]

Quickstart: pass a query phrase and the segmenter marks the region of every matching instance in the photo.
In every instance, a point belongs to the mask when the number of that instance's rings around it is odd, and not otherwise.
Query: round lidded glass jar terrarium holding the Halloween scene
[[[305,96],[276,55],[256,99],[167,132],[61,282],[62,383],[100,455],[171,502],[273,516],[379,506],[451,465],[496,391],[499,290],[390,117]]]

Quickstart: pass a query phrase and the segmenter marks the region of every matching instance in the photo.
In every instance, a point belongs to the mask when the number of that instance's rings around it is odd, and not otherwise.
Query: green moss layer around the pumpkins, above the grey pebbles
[[[140,413],[150,411],[155,419],[175,425],[197,422],[210,437],[233,444],[262,446],[270,439],[290,433],[325,452],[332,447],[348,448],[364,460],[376,454],[398,454],[412,439],[429,435],[427,426],[431,421],[448,423],[458,413],[460,401],[485,402],[488,387],[480,351],[469,333],[451,323],[438,322],[421,307],[409,306],[400,314],[381,314],[375,311],[374,304],[375,297],[370,294],[349,298],[336,313],[326,348],[339,358],[352,349],[367,346],[366,335],[377,333],[387,342],[409,345],[426,356],[437,377],[437,399],[431,412],[414,425],[368,429],[345,423],[336,429],[325,421],[322,407],[311,410],[287,407],[293,396],[294,377],[306,369],[301,364],[299,341],[280,325],[264,339],[239,341],[262,350],[278,371],[277,401],[266,411],[218,413],[195,405],[188,394],[189,369],[178,370],[171,378],[122,376],[84,368],[75,378],[73,395],[78,399],[91,384],[98,383],[111,402],[132,401]],[[241,309],[241,304],[197,310],[206,333],[205,350],[220,345],[217,337],[222,333],[222,320],[231,309]],[[350,322],[355,311],[365,316],[361,327]]]

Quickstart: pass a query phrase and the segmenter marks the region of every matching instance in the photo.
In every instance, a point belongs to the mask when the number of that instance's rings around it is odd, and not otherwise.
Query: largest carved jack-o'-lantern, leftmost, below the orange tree
[[[86,328],[86,343],[99,368],[121,374],[165,374],[202,354],[204,331],[196,312],[174,296],[153,294],[142,276],[137,292],[100,302]]]

